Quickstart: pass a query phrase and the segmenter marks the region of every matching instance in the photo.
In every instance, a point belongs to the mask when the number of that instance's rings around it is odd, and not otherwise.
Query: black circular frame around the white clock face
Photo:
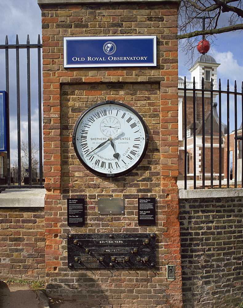
[[[98,106],[101,106],[101,105],[119,105],[119,106],[122,106],[122,107],[125,107],[127,109],[129,109],[131,112],[133,112],[137,117],[138,119],[141,121],[141,124],[143,126],[143,129],[144,129],[144,132],[145,132],[145,145],[144,145],[144,149],[143,149],[143,152],[139,158],[139,160],[133,165],[131,166],[130,168],[122,171],[122,172],[118,172],[116,174],[110,174],[110,173],[102,173],[102,172],[98,172],[98,171],[95,171],[94,169],[90,168],[89,165],[87,165],[85,163],[85,161],[83,161],[82,157],[80,156],[79,152],[78,152],[78,149],[77,149],[77,146],[76,146],[76,133],[77,133],[77,129],[78,129],[78,125],[79,123],[82,121],[82,118],[88,113],[90,112],[92,109],[98,107]],[[146,124],[145,124],[145,121],[143,120],[143,118],[141,117],[141,115],[135,110],[133,109],[132,107],[124,104],[124,103],[121,103],[121,102],[118,102],[118,101],[114,101],[114,100],[106,100],[104,102],[100,102],[98,104],[95,104],[91,107],[89,107],[88,109],[86,109],[86,111],[84,111],[79,117],[78,117],[78,120],[77,122],[75,123],[75,126],[74,126],[74,131],[73,131],[73,136],[72,136],[72,143],[73,143],[73,146],[74,146],[74,152],[76,154],[76,156],[78,157],[78,160],[81,162],[81,164],[88,170],[90,171],[91,173],[97,175],[97,176],[101,176],[101,177],[119,177],[119,176],[124,176],[126,175],[127,173],[129,173],[130,171],[132,171],[133,169],[135,169],[140,163],[141,161],[143,160],[146,152],[147,152],[147,148],[148,148],[148,143],[149,143],[149,134],[148,134],[148,130],[147,130],[147,127],[146,127]]]

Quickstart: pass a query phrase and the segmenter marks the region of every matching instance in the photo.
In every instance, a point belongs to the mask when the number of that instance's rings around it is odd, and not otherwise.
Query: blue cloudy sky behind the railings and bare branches
[[[224,20],[221,20],[221,23],[224,23]],[[225,22],[226,23],[226,22]],[[26,43],[27,34],[30,36],[30,43],[37,43],[38,34],[41,34],[41,10],[37,4],[37,0],[7,0],[0,2],[0,44],[5,43],[5,37],[8,35],[8,40],[10,44],[15,43],[16,34],[18,34],[19,43]],[[214,46],[211,46],[211,50],[208,54],[212,55],[217,63],[221,63],[218,67],[218,78],[221,78],[222,88],[226,87],[227,79],[229,78],[230,86],[233,87],[234,80],[237,80],[238,91],[241,91],[241,81],[243,80],[242,71],[243,71],[243,32],[235,31],[228,32],[225,34],[219,34],[217,40],[215,41]],[[1,72],[5,71],[5,58],[3,54],[4,50],[0,50],[0,69]],[[194,55],[194,60],[197,59],[199,54],[197,51]],[[15,57],[15,51],[10,51],[10,58]],[[36,54],[33,56],[33,65],[31,69],[33,73],[36,72],[35,59]],[[188,72],[188,65],[184,65],[187,62],[186,56],[183,54],[183,51],[179,50],[179,76],[186,76],[187,79],[190,79],[190,73]],[[20,61],[22,62],[21,74],[26,74],[26,51],[20,51]],[[11,66],[10,71],[16,76],[15,67]],[[27,118],[26,118],[26,83],[22,82],[21,90],[21,124],[22,124],[22,139],[27,140]],[[5,75],[1,73],[0,76],[0,88],[5,89]],[[38,109],[37,109],[37,98],[35,96],[37,92],[37,84],[34,81],[34,78],[31,83],[31,99],[32,99],[32,139],[38,138]],[[233,88],[230,89],[233,91]],[[11,127],[11,148],[12,148],[12,157],[14,153],[14,148],[17,144],[17,135],[16,135],[16,107],[14,104],[16,101],[16,85],[13,81],[10,81],[10,127]],[[12,158],[13,159],[13,158]]]

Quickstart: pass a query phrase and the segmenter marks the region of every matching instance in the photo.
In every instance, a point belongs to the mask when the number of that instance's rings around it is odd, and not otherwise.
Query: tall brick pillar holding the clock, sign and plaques
[[[59,1],[60,2],[60,1]],[[43,27],[44,176],[47,190],[47,290],[112,308],[182,306],[178,222],[177,2],[38,0]],[[157,35],[157,67],[63,67],[63,36]],[[141,164],[127,176],[97,177],[77,160],[78,116],[105,100],[136,109],[149,130]],[[67,198],[85,198],[84,227],[67,225]],[[98,214],[98,197],[124,197],[125,215]],[[156,225],[139,226],[137,198],[155,197]],[[156,268],[75,270],[67,267],[67,233],[157,235]],[[176,280],[166,265],[176,265]]]

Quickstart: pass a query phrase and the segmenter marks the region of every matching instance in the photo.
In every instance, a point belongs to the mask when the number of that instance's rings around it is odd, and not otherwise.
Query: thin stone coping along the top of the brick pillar
[[[112,2],[180,2],[180,0],[37,0],[39,6],[42,4],[78,4],[78,3],[112,3]]]

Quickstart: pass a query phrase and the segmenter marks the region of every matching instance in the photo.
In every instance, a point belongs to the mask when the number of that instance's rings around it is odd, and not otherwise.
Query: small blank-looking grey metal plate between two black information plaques
[[[124,214],[124,198],[98,198],[99,214]]]

